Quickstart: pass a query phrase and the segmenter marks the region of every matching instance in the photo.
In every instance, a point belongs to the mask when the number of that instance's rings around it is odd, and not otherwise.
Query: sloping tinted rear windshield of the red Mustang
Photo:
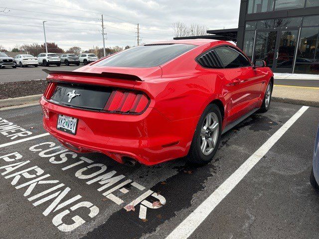
[[[195,45],[189,44],[137,46],[110,56],[97,63],[96,66],[154,67],[174,59],[195,47]]]

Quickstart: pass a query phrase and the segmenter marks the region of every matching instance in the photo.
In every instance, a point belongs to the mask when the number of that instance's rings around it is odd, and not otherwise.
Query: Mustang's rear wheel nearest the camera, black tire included
[[[211,123],[207,119],[211,118]],[[218,122],[217,122],[218,120]],[[210,127],[214,126],[215,130]],[[207,127],[207,125],[210,127]],[[204,129],[206,127],[206,130]],[[209,128],[209,129],[207,129]],[[222,118],[219,108],[215,104],[208,105],[201,115],[187,154],[187,160],[192,164],[203,165],[209,163],[219,146],[222,129]],[[204,143],[204,140],[206,143]],[[210,143],[209,143],[210,142]],[[215,144],[213,146],[212,142]]]

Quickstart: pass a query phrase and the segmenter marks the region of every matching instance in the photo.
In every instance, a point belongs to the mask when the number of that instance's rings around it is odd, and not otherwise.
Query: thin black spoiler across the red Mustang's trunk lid
[[[104,78],[130,80],[130,81],[143,81],[140,77],[136,75],[112,73],[112,72],[90,73],[90,72],[77,72],[77,71],[50,71],[47,69],[42,69],[42,71],[44,71],[45,73],[49,75],[92,76],[92,77],[104,77]]]

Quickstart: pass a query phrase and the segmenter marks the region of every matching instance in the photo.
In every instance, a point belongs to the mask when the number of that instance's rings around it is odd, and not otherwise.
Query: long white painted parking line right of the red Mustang
[[[281,126],[280,129],[257,149],[226,181],[181,222],[166,239],[187,239],[308,108],[308,106],[303,106],[292,118]]]

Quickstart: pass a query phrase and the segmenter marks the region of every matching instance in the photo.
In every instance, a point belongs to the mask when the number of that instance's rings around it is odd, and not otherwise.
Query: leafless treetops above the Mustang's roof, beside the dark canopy
[[[185,23],[180,21],[174,22],[172,26],[174,37],[207,35],[208,30],[208,26],[195,23],[186,25]]]

